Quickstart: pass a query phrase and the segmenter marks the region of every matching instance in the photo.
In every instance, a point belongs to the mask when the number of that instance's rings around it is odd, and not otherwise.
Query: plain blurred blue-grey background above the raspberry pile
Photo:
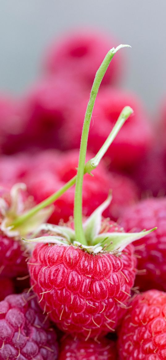
[[[166,94],[166,0],[0,0],[0,90],[20,94],[51,40],[86,24],[132,46],[123,87],[156,114]]]

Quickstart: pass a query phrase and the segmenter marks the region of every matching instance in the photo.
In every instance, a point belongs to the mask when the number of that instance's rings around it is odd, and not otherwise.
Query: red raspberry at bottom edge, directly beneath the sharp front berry
[[[81,341],[71,337],[62,339],[59,360],[116,360],[115,343],[103,338],[100,342],[93,339]]]

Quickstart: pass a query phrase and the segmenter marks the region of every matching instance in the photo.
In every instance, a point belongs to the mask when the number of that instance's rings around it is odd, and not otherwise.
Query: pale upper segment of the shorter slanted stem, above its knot
[[[98,153],[95,155],[94,158],[90,159],[85,164],[85,173],[90,173],[92,170],[94,170],[98,165],[101,159],[103,158],[104,154],[107,152],[109,146],[112,144],[112,141],[116,138],[116,135],[120,131],[121,127],[124,125],[125,121],[129,118],[129,116],[133,113],[133,109],[130,108],[130,106],[125,106],[124,109],[121,111],[117,122],[115,123],[112,131],[110,132],[108,138],[98,151]]]

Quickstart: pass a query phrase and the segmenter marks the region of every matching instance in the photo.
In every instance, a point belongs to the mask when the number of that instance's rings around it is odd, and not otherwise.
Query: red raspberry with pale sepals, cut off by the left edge
[[[22,184],[21,184],[22,185]],[[32,205],[32,197],[16,184],[11,192],[0,189],[0,276],[14,278],[27,274],[27,251],[19,231],[8,228],[8,221]],[[7,221],[7,222],[6,222]]]

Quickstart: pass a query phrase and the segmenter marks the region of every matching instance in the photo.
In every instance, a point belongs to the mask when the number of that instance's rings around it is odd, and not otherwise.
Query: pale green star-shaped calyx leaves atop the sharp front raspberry
[[[84,233],[88,242],[87,245],[76,241],[75,231],[68,226],[59,226],[52,224],[42,224],[39,226],[35,232],[33,238],[25,240],[29,243],[51,243],[69,246],[73,244],[81,248],[82,250],[90,253],[97,254],[99,252],[112,252],[112,253],[121,253],[124,248],[132,243],[135,240],[141,239],[144,236],[150,234],[152,231],[157,228],[150,230],[143,230],[140,233],[122,233],[122,232],[112,232],[112,233],[99,233],[102,224],[102,212],[107,208],[112,199],[112,194],[109,193],[108,198],[89,216],[89,218],[84,222]],[[46,231],[48,236],[36,237],[40,231]],[[50,234],[49,234],[50,233]]]

